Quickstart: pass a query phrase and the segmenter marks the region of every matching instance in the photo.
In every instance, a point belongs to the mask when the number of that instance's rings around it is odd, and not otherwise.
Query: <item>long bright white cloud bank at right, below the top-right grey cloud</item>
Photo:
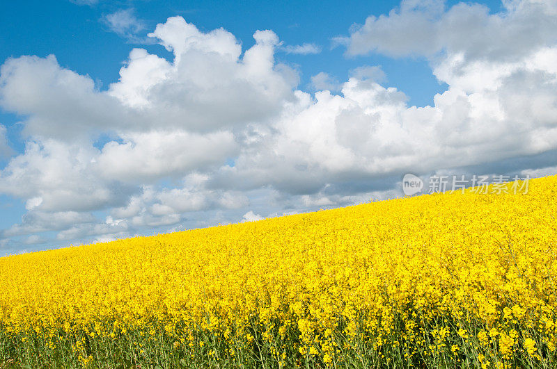
[[[557,81],[548,72],[519,65],[474,92],[457,82],[424,108],[407,106],[394,88],[355,77],[343,84],[342,95],[317,92],[314,100],[299,92],[299,103],[285,108],[275,133],[258,137],[256,149],[244,149],[235,167],[221,168],[216,178],[220,186],[272,184],[308,194],[327,183],[343,190],[394,173],[555,150]]]

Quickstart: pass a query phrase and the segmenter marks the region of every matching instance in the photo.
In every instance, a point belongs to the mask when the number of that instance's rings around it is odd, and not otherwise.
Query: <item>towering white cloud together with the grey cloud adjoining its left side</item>
[[[229,130],[272,119],[293,98],[297,77],[274,63],[279,42],[272,31],[257,31],[241,58],[231,33],[202,33],[181,17],[157,25],[150,37],[173,51],[173,62],[134,49],[107,92],[54,56],[8,59],[0,106],[28,117],[26,135],[75,140],[107,131]]]

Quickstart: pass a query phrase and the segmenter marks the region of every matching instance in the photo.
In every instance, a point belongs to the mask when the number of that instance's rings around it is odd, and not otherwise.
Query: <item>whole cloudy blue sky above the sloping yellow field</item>
[[[406,172],[551,174],[555,9],[3,3],[0,246],[345,206],[400,194]]]

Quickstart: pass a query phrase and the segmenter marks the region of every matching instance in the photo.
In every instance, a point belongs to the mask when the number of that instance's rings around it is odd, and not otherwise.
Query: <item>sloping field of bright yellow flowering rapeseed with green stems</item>
[[[0,259],[0,366],[557,366],[557,177]]]

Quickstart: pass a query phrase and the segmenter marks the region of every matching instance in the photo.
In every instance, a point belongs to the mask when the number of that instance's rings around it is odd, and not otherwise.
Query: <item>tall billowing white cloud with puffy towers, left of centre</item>
[[[292,69],[274,63],[279,44],[272,31],[257,31],[256,44],[242,47],[228,31],[198,31],[182,17],[169,18],[150,33],[174,61],[136,49],[109,95],[154,122],[189,131],[231,129],[277,115],[292,98]]]

